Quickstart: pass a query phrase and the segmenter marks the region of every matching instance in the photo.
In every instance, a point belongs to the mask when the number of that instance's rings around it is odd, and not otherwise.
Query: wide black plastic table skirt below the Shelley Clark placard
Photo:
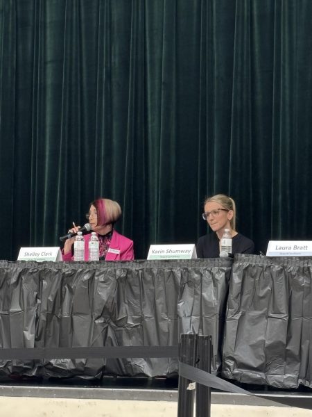
[[[0,261],[1,347],[177,345],[211,334],[214,372],[232,260]],[[1,375],[148,377],[177,373],[177,359],[0,361]]]

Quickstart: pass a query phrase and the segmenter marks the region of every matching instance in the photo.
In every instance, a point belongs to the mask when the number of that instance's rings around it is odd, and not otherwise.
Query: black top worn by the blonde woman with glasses
[[[198,258],[218,258],[220,254],[219,238],[216,233],[207,234],[198,239],[196,245]],[[253,254],[254,243],[238,233],[232,238],[233,254]]]

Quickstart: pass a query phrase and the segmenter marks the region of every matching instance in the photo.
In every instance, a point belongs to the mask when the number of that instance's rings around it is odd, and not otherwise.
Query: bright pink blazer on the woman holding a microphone
[[[85,261],[89,261],[89,240],[91,233],[83,236],[85,239]],[[73,261],[71,253],[62,254],[63,261]],[[114,230],[110,247],[105,257],[105,261],[133,261],[135,253],[133,252],[133,241]]]

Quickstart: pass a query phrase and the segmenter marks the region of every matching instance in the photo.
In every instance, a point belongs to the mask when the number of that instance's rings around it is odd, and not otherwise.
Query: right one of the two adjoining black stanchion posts
[[[197,338],[198,363],[197,368],[211,372],[211,336]],[[211,389],[208,386],[196,384],[196,417],[210,417]]]

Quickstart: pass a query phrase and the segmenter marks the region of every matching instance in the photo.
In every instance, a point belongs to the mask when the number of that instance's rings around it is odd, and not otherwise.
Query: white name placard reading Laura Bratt
[[[312,256],[312,241],[270,240],[266,256]]]

